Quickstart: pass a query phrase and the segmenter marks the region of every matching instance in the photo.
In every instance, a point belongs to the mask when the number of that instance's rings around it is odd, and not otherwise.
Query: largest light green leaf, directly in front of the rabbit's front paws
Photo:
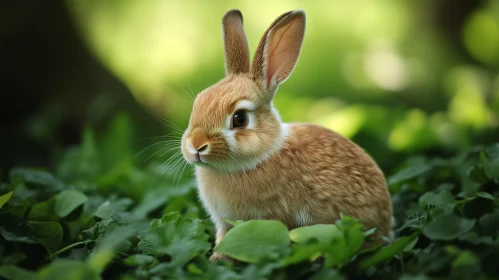
[[[216,251],[248,263],[275,257],[290,244],[288,229],[280,221],[250,220],[227,232]]]

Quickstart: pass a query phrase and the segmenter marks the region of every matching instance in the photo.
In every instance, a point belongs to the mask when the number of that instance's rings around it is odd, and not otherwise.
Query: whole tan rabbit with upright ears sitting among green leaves
[[[375,227],[374,244],[393,235],[376,162],[330,129],[283,123],[273,105],[300,56],[305,22],[300,9],[275,19],[250,68],[241,12],[223,16],[225,77],[196,96],[180,145],[215,224],[215,246],[231,228],[224,219],[279,220],[293,229],[334,224],[343,214]],[[230,258],[214,250],[210,260],[220,259]]]

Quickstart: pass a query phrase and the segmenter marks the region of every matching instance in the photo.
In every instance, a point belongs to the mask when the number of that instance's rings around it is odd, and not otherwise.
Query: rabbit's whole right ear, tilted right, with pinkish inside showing
[[[295,68],[305,35],[305,12],[294,10],[282,14],[265,31],[253,58],[251,74],[269,92]]]

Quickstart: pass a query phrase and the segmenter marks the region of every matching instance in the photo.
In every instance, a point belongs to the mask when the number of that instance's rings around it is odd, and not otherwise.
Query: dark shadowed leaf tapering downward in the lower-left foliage
[[[33,238],[52,254],[59,249],[64,231],[58,222],[29,222]]]

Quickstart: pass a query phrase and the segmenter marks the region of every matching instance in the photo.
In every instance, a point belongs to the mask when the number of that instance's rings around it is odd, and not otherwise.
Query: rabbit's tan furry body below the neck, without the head
[[[332,224],[340,213],[391,230],[392,205],[381,170],[355,143],[308,124],[283,124],[282,148],[256,168],[225,173],[196,167],[202,201],[221,240],[222,219],[274,219],[288,228]]]

